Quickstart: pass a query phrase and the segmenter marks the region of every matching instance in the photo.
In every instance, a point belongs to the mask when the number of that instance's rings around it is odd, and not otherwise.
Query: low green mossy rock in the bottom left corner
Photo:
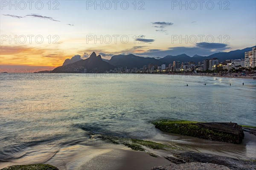
[[[49,164],[28,164],[28,165],[14,165],[10,167],[5,167],[1,170],[59,170]]]

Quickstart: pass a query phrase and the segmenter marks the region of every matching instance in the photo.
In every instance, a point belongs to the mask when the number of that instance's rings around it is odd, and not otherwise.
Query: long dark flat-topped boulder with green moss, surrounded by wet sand
[[[212,141],[241,144],[244,138],[242,127],[236,123],[160,120],[155,121],[153,124],[157,129],[164,132]]]

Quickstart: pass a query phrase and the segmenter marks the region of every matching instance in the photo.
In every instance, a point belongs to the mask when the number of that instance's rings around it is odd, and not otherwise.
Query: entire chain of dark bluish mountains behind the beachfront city
[[[71,59],[66,59],[63,63],[63,66],[55,68],[52,72],[84,72],[84,69],[94,70],[94,72],[104,72],[105,70],[114,69],[117,67],[127,67],[128,69],[137,67],[143,68],[143,66],[148,66],[148,64],[153,64],[160,66],[161,64],[166,64],[168,66],[173,61],[180,62],[189,62],[193,61],[196,64],[199,61],[204,61],[206,59],[218,58],[220,62],[224,62],[225,60],[235,60],[244,58],[244,52],[251,51],[253,47],[238,49],[230,52],[219,52],[209,56],[200,56],[194,55],[190,57],[186,54],[181,55],[166,55],[164,58],[156,59],[149,57],[140,57],[137,55],[129,54],[129,55],[114,55],[110,60],[102,59],[101,55],[96,55],[93,52],[89,58],[83,60],[80,55],[75,55]],[[78,60],[78,61],[76,61]],[[73,62],[73,63],[72,63]]]

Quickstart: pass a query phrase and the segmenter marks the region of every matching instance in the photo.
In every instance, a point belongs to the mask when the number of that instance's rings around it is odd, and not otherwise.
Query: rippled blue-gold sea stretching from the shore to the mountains
[[[40,160],[92,133],[152,138],[157,119],[256,126],[253,79],[2,73],[0,103],[1,162]]]

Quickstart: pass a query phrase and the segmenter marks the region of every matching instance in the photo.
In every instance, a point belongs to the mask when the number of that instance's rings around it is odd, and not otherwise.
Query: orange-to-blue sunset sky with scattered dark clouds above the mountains
[[[23,2],[1,1],[1,69],[53,69],[93,51],[162,58],[256,45],[255,0]]]

